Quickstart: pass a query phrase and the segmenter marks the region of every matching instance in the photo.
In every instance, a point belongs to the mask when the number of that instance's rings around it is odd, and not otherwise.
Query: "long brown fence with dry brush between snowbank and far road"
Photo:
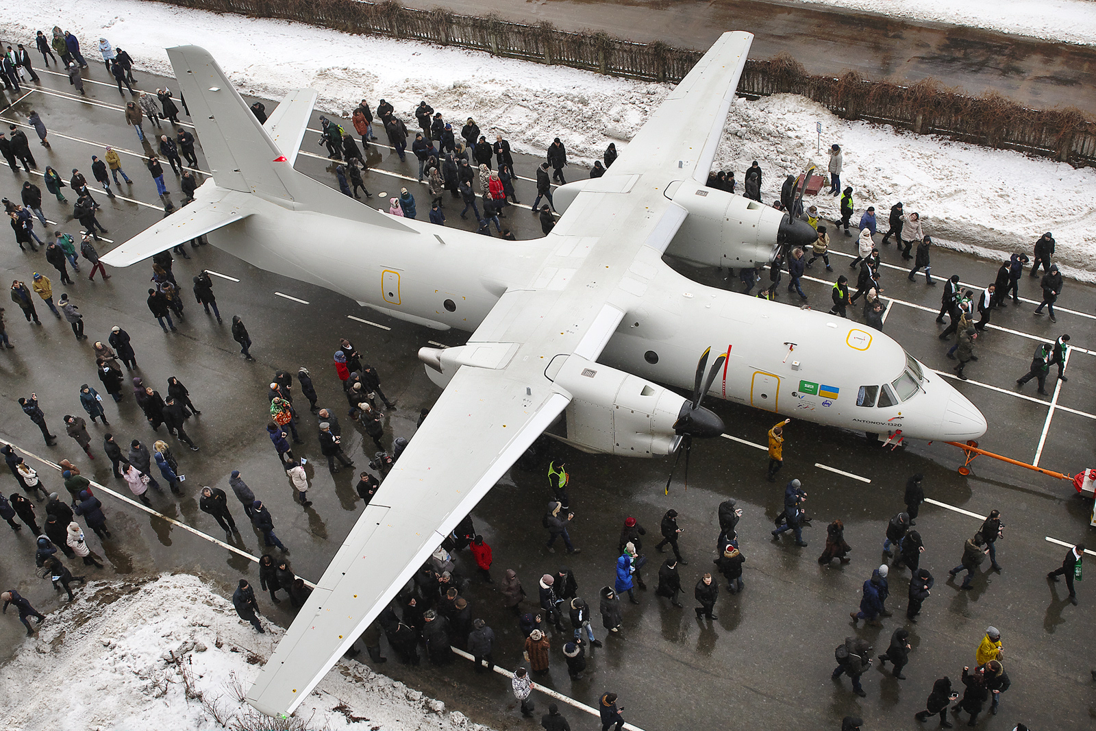
[[[276,18],[345,31],[459,46],[506,58],[557,64],[629,79],[680,81],[703,55],[663,43],[635,43],[605,33],[561,31],[494,16],[457,15],[357,0],[162,0],[170,4]],[[1077,110],[1030,110],[1000,94],[969,96],[932,80],[902,87],[848,72],[814,76],[790,57],[749,60],[739,94],[808,96],[845,119],[866,119],[917,134],[947,135],[994,148],[1096,165],[1096,123]]]

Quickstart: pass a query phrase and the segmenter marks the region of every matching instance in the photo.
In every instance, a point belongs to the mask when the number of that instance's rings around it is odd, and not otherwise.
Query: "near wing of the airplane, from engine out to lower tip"
[[[550,385],[465,366],[449,382],[248,692],[289,713],[567,408]]]

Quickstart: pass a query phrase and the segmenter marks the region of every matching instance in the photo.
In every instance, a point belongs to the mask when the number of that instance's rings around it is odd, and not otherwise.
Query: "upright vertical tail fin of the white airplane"
[[[168,49],[168,58],[186,96],[217,187],[293,201],[293,163],[259,124],[213,56],[198,46],[176,46]]]

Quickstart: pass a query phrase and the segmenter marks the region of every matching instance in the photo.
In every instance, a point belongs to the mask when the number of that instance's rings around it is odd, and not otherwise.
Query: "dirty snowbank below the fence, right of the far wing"
[[[822,123],[821,146],[817,122]],[[1030,252],[1035,240],[1050,230],[1063,273],[1096,281],[1092,168],[846,122],[794,94],[735,100],[716,167],[739,171],[741,190],[741,171],[757,160],[764,172],[762,197],[772,203],[788,174],[799,174],[809,164],[824,174],[834,142],[844,151],[842,185],[854,189],[854,225],[874,205],[880,231],[886,231],[890,207],[901,201],[907,213],[921,213],[925,232],[938,244],[993,256]],[[838,198],[825,195],[825,189],[807,201],[831,220],[841,217]]]

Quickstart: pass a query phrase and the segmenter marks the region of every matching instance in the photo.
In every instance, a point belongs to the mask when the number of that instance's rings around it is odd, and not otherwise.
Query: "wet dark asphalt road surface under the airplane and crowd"
[[[90,176],[90,156],[102,156],[105,145],[118,149],[123,153],[123,168],[134,181],[133,185],[123,185],[122,192],[139,203],[109,201],[100,194],[96,199],[103,204],[100,220],[110,230],[107,238],[124,241],[155,222],[162,213],[148,172],[129,153],[139,152],[141,147],[123,121],[122,98],[113,85],[105,83],[101,67],[93,65],[84,75],[89,79],[87,100],[71,94],[67,79],[42,73],[41,89],[35,88],[30,96],[4,110],[0,118],[24,123],[30,110],[37,110],[52,130],[53,142],[52,149],[45,150],[37,145],[33,130],[30,132],[38,167],[53,164],[66,180],[72,168]],[[148,75],[139,75],[139,82],[147,90],[164,83]],[[266,106],[271,112],[275,103],[267,102]],[[183,115],[182,119],[185,123],[187,117]],[[318,124],[313,126],[318,128]],[[298,158],[297,168],[334,185],[330,162],[316,155],[323,149],[317,146],[317,138],[312,132],[306,134],[305,152]],[[204,167],[201,151],[198,160]],[[429,196],[425,186],[414,183],[416,167],[410,159],[401,163],[387,147],[374,147],[369,161],[377,168],[366,175],[366,185],[375,194],[374,205],[380,205],[380,192],[398,193],[401,185],[407,185],[425,214]],[[517,172],[529,175],[535,163],[530,158],[520,157]],[[575,178],[584,174],[574,168],[569,172]],[[23,173],[0,169],[0,195],[18,199],[19,187],[27,179]],[[60,221],[59,230],[76,233],[79,226],[69,218],[75,196],[66,191],[69,204],[62,206],[48,196],[41,175],[32,174],[30,180],[43,189],[47,217]],[[167,181],[178,205],[181,199],[178,179],[168,171]],[[517,191],[525,204],[532,202],[533,183],[521,181]],[[450,198],[445,199],[448,225],[466,226],[457,216],[459,209],[448,203]],[[540,235],[536,218],[527,210],[511,208],[504,222],[513,227],[518,238]],[[54,228],[49,227],[50,233]],[[41,226],[36,226],[36,231],[43,236]],[[322,245],[322,231],[302,230],[300,235]],[[60,292],[68,292],[80,306],[90,339],[77,342],[67,323],[56,321],[45,307],[38,307],[43,324],[36,327],[24,322],[13,304],[2,302],[7,308],[8,331],[16,347],[0,355],[3,401],[0,437],[54,461],[69,458],[89,478],[127,493],[125,483],[111,476],[110,464],[102,455],[101,435],[107,427],[89,426],[93,452],[98,455],[94,461],[59,431],[64,414],[84,415],[78,400],[79,386],[83,382],[100,386],[91,344],[95,340],[105,341],[110,328],[118,324],[133,336],[139,364],[134,373],[161,393],[167,391],[168,377],[179,377],[202,410],[202,415],[192,418],[187,424],[201,452],[191,453],[174,438],[167,439],[186,475],[186,494],[181,499],[153,494],[153,507],[209,536],[222,538],[215,522],[198,510],[197,492],[203,484],[226,489],[241,528],[241,536],[232,544],[259,552],[261,535],[247,525],[228,489],[229,472],[239,469],[270,507],[277,535],[290,548],[294,570],[313,581],[362,509],[354,492],[358,469],[331,476],[322,468],[317,419],[298,396],[299,431],[306,444],[295,452],[309,458],[309,499],[315,504],[302,511],[294,502],[293,490],[264,430],[269,418],[266,385],[274,370],[296,373],[300,366],[308,367],[320,395],[320,406],[345,414],[331,353],[339,338],[349,338],[364,354],[363,361],[376,366],[389,398],[398,401],[398,410],[386,414],[385,443],[390,444],[393,435],[411,436],[419,410],[429,408],[438,396],[415,357],[418,349],[430,341],[456,345],[466,338],[460,332],[439,333],[391,320],[323,289],[255,270],[214,247],[187,248],[192,259],[185,261],[176,255],[174,272],[187,298],[190,278],[199,267],[240,279],[214,278],[225,323],[217,323],[187,299],[186,319],[179,325],[179,333],[163,334],[145,305],[150,276],[146,264],[112,270],[109,283],[98,278],[90,283],[84,263],[81,275],[75,276],[77,284],[61,287],[41,251],[21,252],[11,238],[0,248],[5,282],[12,278],[30,282],[33,271],[49,275],[54,279],[55,298]],[[363,243],[363,255],[368,255],[366,245]],[[834,237],[835,251],[852,252],[854,245],[855,239]],[[101,253],[109,248],[110,244],[102,244]],[[940,286],[927,287],[922,277],[914,284],[907,283],[893,247],[882,249],[883,261],[898,266],[884,267],[884,297],[894,297],[886,321],[887,332],[929,367],[949,373],[952,364],[944,357],[943,343],[936,339],[939,328],[933,322]],[[847,269],[850,256],[835,253],[832,259],[837,272],[850,272]],[[933,260],[937,275],[958,273],[963,282],[980,285],[992,282],[997,266],[995,262],[941,250],[933,253]],[[809,274],[824,274],[820,266],[821,262],[817,263]],[[726,275],[726,272],[687,267],[682,271],[710,284],[720,283]],[[738,286],[737,277],[732,282]],[[812,304],[829,307],[829,282],[804,281],[804,288]],[[275,292],[308,304],[285,299]],[[1036,281],[1025,276],[1021,295],[1038,299]],[[783,285],[779,299],[789,301]],[[1096,328],[1092,312],[1096,309],[1096,290],[1068,282],[1059,304],[1075,312],[1060,309],[1057,325],[1046,317],[1032,317],[1035,305],[1029,302],[1009,305],[1005,311],[994,312],[993,325],[979,339],[980,361],[968,368],[971,381],[954,382],[987,418],[990,431],[980,441],[983,448],[1029,461],[1035,458],[1044,433],[1040,464],[1072,473],[1096,467],[1091,464],[1096,356],[1074,351],[1069,382],[1061,384],[1059,391],[1049,382],[1048,388],[1057,396],[1049,420],[1050,397],[1036,397],[1035,384],[1026,387],[1023,397],[1016,395],[1014,387],[1015,379],[1027,372],[1037,339],[1052,340],[1069,332],[1074,345],[1094,349]],[[849,311],[856,319],[863,319],[859,308]],[[254,341],[255,363],[243,361],[231,340],[228,322],[233,313],[240,315],[248,325]],[[383,328],[349,319],[350,316]],[[99,390],[103,393],[103,389]],[[45,447],[37,429],[21,413],[16,400],[31,391],[41,398],[47,422],[60,437],[58,446]],[[128,389],[119,404],[105,400],[110,431],[119,443],[137,437],[151,446],[155,439],[164,436],[163,430],[155,434],[144,422]],[[724,419],[729,434],[757,444],[764,442],[765,432],[779,420],[775,414],[727,403],[709,401],[707,406]],[[347,453],[358,468],[364,468],[367,455],[374,450],[373,443],[366,438],[363,445],[361,433],[345,416],[341,420]],[[933,681],[946,674],[958,685],[962,666],[973,664],[974,649],[985,627],[994,625],[1003,632],[1005,667],[1013,686],[1003,696],[1001,715],[985,716],[980,724],[1012,729],[1023,721],[1036,730],[1092,727],[1096,703],[1088,673],[1093,666],[1089,626],[1096,596],[1088,590],[1089,582],[1082,582],[1081,605],[1073,607],[1065,601],[1064,584],[1052,586],[1044,579],[1046,572],[1058,567],[1066,551],[1048,542],[1046,537],[1070,542],[1091,538],[1091,501],[1076,496],[1072,484],[1065,481],[986,457],[974,462],[972,476],[960,477],[956,467],[962,462],[961,452],[945,444],[910,443],[895,450],[881,449],[863,434],[800,421],[787,427],[786,437],[785,468],[778,484],[764,479],[763,452],[723,438],[696,445],[687,489],[680,469],[669,495],[663,494],[670,468],[664,460],[590,456],[548,443],[545,464],[537,470],[511,470],[472,515],[477,529],[494,549],[495,578],[500,579],[507,568],[515,569],[534,597],[537,578],[567,564],[575,571],[580,595],[596,606],[598,590],[613,581],[617,535],[624,518],[636,516],[648,530],[644,552],[651,559],[646,569],[650,591],[638,592],[639,606],[625,604],[623,637],[610,638],[603,649],[593,650],[586,679],[571,682],[561,654],[562,642],[559,636],[551,636],[552,670],[545,685],[587,704],[596,703],[606,690],[615,690],[627,708],[626,718],[648,730],[689,730],[717,723],[732,729],[835,729],[846,713],[863,716],[866,729],[913,729],[920,728],[913,713],[923,708]],[[583,549],[579,556],[549,555],[544,549],[546,536],[539,518],[549,496],[544,469],[547,458],[566,460],[572,476],[570,493],[576,517],[571,535]],[[313,459],[321,460],[319,467]],[[30,461],[39,469],[50,491],[64,494],[59,475],[34,459]],[[860,476],[870,483],[821,469],[817,464]],[[865,628],[861,624],[860,629],[854,630],[848,613],[857,607],[861,583],[882,558],[880,546],[886,522],[903,510],[905,479],[914,472],[925,475],[925,491],[931,499],[979,515],[994,507],[1002,511],[1006,528],[997,558],[1004,571],[981,573],[970,592],[958,591],[955,583],[947,582],[946,572],[959,562],[963,540],[981,522],[954,510],[924,505],[917,519],[917,529],[926,545],[922,566],[934,573],[937,583],[925,602],[921,621],[910,626],[913,652],[904,671],[909,679],[898,681],[872,667],[865,675],[868,697],[860,699],[853,695],[847,679],[842,683],[830,679],[833,648],[855,633],[871,640],[877,652],[882,652],[891,631],[902,626],[909,579],[905,570],[891,573],[892,598],[888,606],[894,617],[884,619],[882,628]],[[809,494],[808,512],[815,517],[814,525],[804,532],[804,539],[810,542],[808,548],[797,548],[788,538],[774,541],[768,534],[772,518],[781,510],[783,480],[792,477],[802,480]],[[5,493],[18,489],[10,476],[0,480]],[[745,590],[738,596],[722,591],[716,608],[718,620],[701,624],[695,620],[692,610],[692,587],[700,573],[713,568],[710,561],[715,558],[719,533],[716,507],[727,496],[737,498],[744,511],[739,536],[747,559]],[[258,572],[249,560],[117,499],[105,494],[100,498],[114,538],[101,548],[100,541],[88,532],[93,549],[106,559],[105,569],[92,569],[87,572],[89,575],[194,572],[215,582],[226,595],[241,575],[258,585]],[[660,518],[669,507],[678,511],[680,524],[685,528],[681,546],[689,564],[681,568],[687,587],[684,609],[673,608],[669,601],[653,594],[662,558],[653,546],[658,541]],[[844,567],[820,568],[815,559],[824,542],[825,524],[835,517],[845,523],[846,539],[854,548],[853,561]],[[9,557],[0,563],[0,584],[15,586],[38,609],[49,612],[59,601],[49,584],[34,575],[34,540],[27,534],[26,529],[12,535],[0,528],[0,541]],[[1096,540],[1091,539],[1089,544]],[[499,636],[495,661],[507,667],[521,664],[516,621],[502,610],[496,586],[479,580],[467,552],[456,560],[463,573],[471,578],[465,594],[472,603],[475,616],[484,617]],[[76,571],[77,566],[68,563],[76,573],[84,573],[82,567]],[[286,609],[288,602],[283,601],[275,608],[265,595],[260,595],[259,601],[273,620],[279,624],[292,620]],[[0,621],[3,658],[19,646],[23,632],[12,613],[8,614]],[[597,637],[605,639],[596,617],[594,626]],[[521,720],[504,678],[476,676],[463,661],[441,670],[425,663],[419,669],[403,667],[387,652],[387,647],[386,654],[390,661],[384,665],[384,672],[445,700],[450,708],[467,712],[476,721],[500,729],[535,726]],[[1048,703],[1048,698],[1055,701]],[[545,705],[543,697],[538,698],[538,712]],[[595,721],[578,711],[563,710],[573,728],[596,728]]]

